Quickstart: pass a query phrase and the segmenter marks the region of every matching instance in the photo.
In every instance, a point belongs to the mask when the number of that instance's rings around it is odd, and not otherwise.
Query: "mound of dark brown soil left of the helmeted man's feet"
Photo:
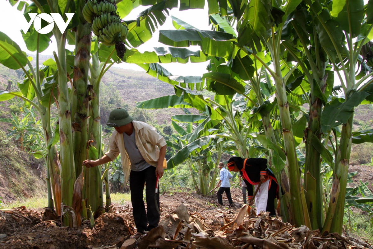
[[[43,214],[25,208],[0,211],[0,248],[83,249],[111,245],[134,234],[130,210],[103,214],[93,228],[60,227],[60,221],[43,221]]]

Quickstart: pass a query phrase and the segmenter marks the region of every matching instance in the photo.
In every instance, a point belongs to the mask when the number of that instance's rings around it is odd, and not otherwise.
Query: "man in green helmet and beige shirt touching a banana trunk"
[[[115,131],[109,143],[109,151],[98,160],[85,160],[88,168],[113,161],[122,155],[125,184],[129,178],[132,214],[134,215],[137,236],[158,226],[160,214],[159,193],[155,197],[157,175],[163,176],[163,160],[166,155],[166,140],[156,129],[144,122],[134,121],[126,109],[116,108],[110,112],[106,125]],[[146,183],[146,184],[145,184]],[[143,200],[145,187],[147,211]]]

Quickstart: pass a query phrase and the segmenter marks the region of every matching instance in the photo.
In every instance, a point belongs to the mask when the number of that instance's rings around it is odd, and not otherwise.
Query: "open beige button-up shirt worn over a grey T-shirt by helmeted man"
[[[144,158],[144,160],[156,167],[159,159],[159,148],[166,145],[166,140],[157,133],[156,128],[140,121],[132,121],[134,125],[136,145]],[[131,171],[131,163],[129,161],[128,154],[124,146],[123,134],[119,134],[117,131],[113,131],[112,137],[109,143],[109,151],[105,155],[114,161],[118,155],[122,155],[122,167],[127,184],[129,173]],[[124,155],[124,156],[123,156]]]

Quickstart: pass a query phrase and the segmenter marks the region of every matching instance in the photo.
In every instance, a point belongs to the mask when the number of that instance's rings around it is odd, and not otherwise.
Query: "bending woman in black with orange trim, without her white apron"
[[[278,184],[275,175],[267,168],[267,159],[265,158],[240,158],[232,157],[228,161],[229,171],[239,172],[247,185],[247,199],[249,205],[253,199],[253,185],[269,180],[268,200],[266,212],[270,215],[276,215],[275,198],[278,198]]]

